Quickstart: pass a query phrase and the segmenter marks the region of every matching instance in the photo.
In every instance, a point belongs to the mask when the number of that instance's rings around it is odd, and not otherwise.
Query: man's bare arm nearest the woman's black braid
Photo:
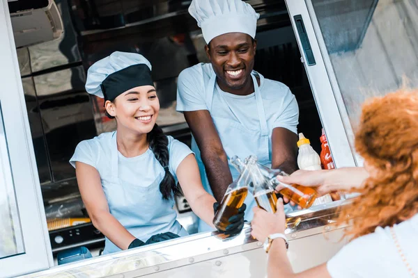
[[[221,202],[226,188],[232,183],[232,175],[215,124],[207,110],[184,111],[184,115],[199,146],[210,188],[217,202]]]

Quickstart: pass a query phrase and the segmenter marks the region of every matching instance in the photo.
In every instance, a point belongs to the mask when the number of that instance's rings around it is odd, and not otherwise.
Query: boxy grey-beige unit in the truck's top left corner
[[[10,1],[9,7],[20,1]],[[28,2],[26,1],[26,3]],[[42,8],[28,8],[25,5],[24,10],[10,9],[16,47],[56,40],[63,34],[63,21],[56,3],[54,0],[45,0],[45,3],[47,6]]]

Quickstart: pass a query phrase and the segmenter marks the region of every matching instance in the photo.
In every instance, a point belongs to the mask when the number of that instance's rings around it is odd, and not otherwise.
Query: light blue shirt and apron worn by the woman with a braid
[[[192,151],[171,136],[167,138],[169,170],[176,179],[178,165]],[[132,236],[145,242],[151,236],[167,231],[178,236],[187,235],[187,231],[176,220],[174,199],[162,199],[160,182],[165,172],[152,150],[148,149],[140,156],[127,158],[117,151],[116,132],[102,133],[77,145],[70,159],[71,165],[75,167],[76,161],[98,170],[111,215]],[[103,253],[118,251],[120,249],[106,238]]]

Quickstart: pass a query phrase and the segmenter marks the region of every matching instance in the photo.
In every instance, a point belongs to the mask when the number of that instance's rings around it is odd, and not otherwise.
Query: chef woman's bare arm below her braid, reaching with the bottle
[[[176,176],[193,212],[210,227],[215,227],[212,220],[214,217],[213,204],[216,200],[202,186],[199,166],[194,154],[186,156],[178,165]]]

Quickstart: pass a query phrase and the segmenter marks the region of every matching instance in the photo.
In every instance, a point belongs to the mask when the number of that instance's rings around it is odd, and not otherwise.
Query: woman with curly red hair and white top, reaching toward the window
[[[268,277],[418,277],[418,90],[367,101],[355,147],[364,168],[297,171],[281,177],[285,183],[318,186],[322,194],[361,193],[337,221],[350,221],[350,243],[327,263],[295,274],[285,241],[278,237],[269,250]],[[258,240],[284,233],[281,200],[277,208],[275,214],[254,208],[252,235]]]

